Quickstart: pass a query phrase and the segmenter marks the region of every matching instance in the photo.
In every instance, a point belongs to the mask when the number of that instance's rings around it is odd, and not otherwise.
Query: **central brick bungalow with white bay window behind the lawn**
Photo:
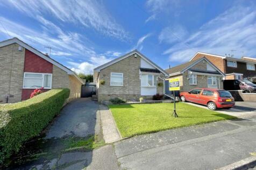
[[[165,70],[133,50],[94,69],[98,101],[152,99],[154,94],[163,94],[166,76]]]

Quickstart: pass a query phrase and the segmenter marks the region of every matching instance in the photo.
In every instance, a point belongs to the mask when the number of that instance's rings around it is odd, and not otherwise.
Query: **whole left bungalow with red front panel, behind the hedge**
[[[35,88],[69,88],[69,99],[80,98],[83,81],[66,66],[18,38],[0,42],[0,102],[30,98]]]

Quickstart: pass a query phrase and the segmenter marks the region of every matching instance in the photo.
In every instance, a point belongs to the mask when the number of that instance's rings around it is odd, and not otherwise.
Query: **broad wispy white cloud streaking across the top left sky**
[[[39,19],[42,23],[50,24],[48,21],[38,17],[50,15],[65,23],[81,24],[87,28],[94,28],[96,31],[117,38],[120,40],[130,39],[128,33],[122,26],[116,23],[110,16],[102,3],[97,1],[3,1],[2,5],[15,7],[28,16]]]

